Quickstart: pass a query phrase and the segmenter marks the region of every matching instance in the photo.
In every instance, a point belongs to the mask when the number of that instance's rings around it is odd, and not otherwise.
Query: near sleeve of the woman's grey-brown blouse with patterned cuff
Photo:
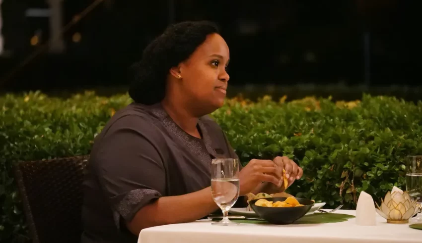
[[[163,155],[158,135],[151,128],[141,116],[123,116],[91,153],[93,169],[118,228],[121,218],[131,221],[144,205],[165,195]]]

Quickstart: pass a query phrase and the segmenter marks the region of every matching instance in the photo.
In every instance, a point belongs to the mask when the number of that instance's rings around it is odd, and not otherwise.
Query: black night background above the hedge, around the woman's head
[[[63,23],[94,0],[64,0]],[[420,8],[414,0],[105,0],[64,34],[66,51],[41,51],[49,19],[25,17],[44,0],[3,0],[0,91],[125,86],[128,66],[172,22],[213,20],[230,48],[230,85],[420,86]],[[73,42],[74,33],[80,42]],[[30,39],[42,33],[37,46]],[[370,88],[368,88],[370,87]],[[416,88],[415,88],[416,89]],[[402,89],[403,90],[403,89]]]

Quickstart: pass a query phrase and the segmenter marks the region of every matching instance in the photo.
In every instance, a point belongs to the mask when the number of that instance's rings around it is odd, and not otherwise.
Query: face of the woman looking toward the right
[[[190,58],[179,65],[181,89],[186,102],[205,114],[224,104],[229,75],[228,46],[218,34],[211,34]]]

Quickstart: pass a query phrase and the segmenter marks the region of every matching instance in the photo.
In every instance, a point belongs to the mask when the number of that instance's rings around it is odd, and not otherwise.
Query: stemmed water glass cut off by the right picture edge
[[[422,208],[422,155],[407,156],[406,191]],[[412,221],[422,221],[421,213]]]

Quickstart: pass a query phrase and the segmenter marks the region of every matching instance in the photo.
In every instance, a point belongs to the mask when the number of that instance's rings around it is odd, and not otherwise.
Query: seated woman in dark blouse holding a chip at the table
[[[210,22],[168,27],[135,65],[134,103],[95,140],[85,180],[82,242],[135,243],[147,227],[195,221],[218,209],[211,159],[237,155],[208,114],[223,105],[229,49]],[[302,169],[286,157],[251,160],[240,195],[276,193]]]

